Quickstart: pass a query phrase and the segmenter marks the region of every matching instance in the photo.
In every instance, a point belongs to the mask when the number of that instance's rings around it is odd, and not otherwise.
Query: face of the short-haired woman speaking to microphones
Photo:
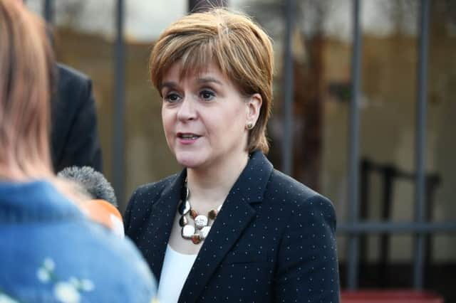
[[[173,64],[160,87],[165,137],[177,161],[204,169],[245,157],[246,124],[256,121],[251,102],[214,64],[182,79],[180,68],[180,62]]]

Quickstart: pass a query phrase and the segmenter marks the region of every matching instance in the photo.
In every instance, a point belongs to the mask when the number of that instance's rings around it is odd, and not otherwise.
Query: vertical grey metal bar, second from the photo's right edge
[[[361,1],[353,0],[353,47],[351,59],[351,106],[350,106],[350,150],[348,181],[348,220],[355,224],[358,221],[358,160],[359,160],[359,99],[361,91]],[[358,235],[348,239],[348,289],[358,288]]]

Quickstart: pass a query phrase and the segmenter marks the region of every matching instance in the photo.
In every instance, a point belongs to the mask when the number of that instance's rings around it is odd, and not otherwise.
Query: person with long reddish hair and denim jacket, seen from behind
[[[0,302],[150,302],[138,250],[90,222],[53,174],[53,66],[43,22],[0,0]]]

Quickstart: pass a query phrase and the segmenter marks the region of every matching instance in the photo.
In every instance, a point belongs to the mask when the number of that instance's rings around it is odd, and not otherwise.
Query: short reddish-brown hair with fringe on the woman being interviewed
[[[227,9],[180,18],[165,29],[150,54],[150,78],[157,90],[177,60],[182,63],[182,77],[215,63],[243,95],[261,95],[259,118],[249,133],[247,149],[267,153],[274,57],[271,39],[260,26],[248,16]]]

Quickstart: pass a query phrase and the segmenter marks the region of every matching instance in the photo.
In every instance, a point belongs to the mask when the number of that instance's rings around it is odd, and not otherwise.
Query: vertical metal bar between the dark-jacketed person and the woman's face
[[[125,43],[123,40],[124,1],[118,0],[115,25],[115,80],[114,80],[114,132],[113,132],[113,186],[118,203],[125,201]]]

